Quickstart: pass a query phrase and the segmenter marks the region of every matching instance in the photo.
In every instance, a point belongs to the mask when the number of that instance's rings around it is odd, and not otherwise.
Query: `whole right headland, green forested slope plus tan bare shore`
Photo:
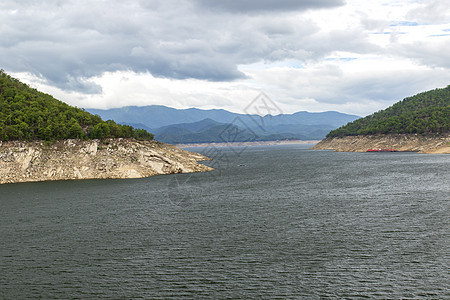
[[[450,153],[450,86],[417,94],[328,133],[311,149]]]

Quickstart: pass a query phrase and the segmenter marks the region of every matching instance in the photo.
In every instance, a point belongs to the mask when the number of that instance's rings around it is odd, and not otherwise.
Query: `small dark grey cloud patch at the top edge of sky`
[[[260,13],[331,8],[344,5],[343,0],[197,0],[204,7],[234,13]]]

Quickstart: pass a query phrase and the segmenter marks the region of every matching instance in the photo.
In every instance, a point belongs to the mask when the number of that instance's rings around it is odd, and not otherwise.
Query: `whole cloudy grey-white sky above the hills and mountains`
[[[0,69],[80,108],[365,116],[450,84],[448,0],[2,0]]]

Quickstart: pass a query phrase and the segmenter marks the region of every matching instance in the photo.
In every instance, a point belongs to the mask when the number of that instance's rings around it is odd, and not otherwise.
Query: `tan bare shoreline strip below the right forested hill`
[[[311,149],[366,152],[372,148],[415,151],[419,153],[450,153],[450,135],[388,134],[335,137],[326,138]]]

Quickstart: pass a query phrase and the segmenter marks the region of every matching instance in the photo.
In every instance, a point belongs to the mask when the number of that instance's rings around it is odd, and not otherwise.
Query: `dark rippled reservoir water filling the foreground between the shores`
[[[196,148],[209,173],[0,186],[0,299],[450,298],[450,156]]]

